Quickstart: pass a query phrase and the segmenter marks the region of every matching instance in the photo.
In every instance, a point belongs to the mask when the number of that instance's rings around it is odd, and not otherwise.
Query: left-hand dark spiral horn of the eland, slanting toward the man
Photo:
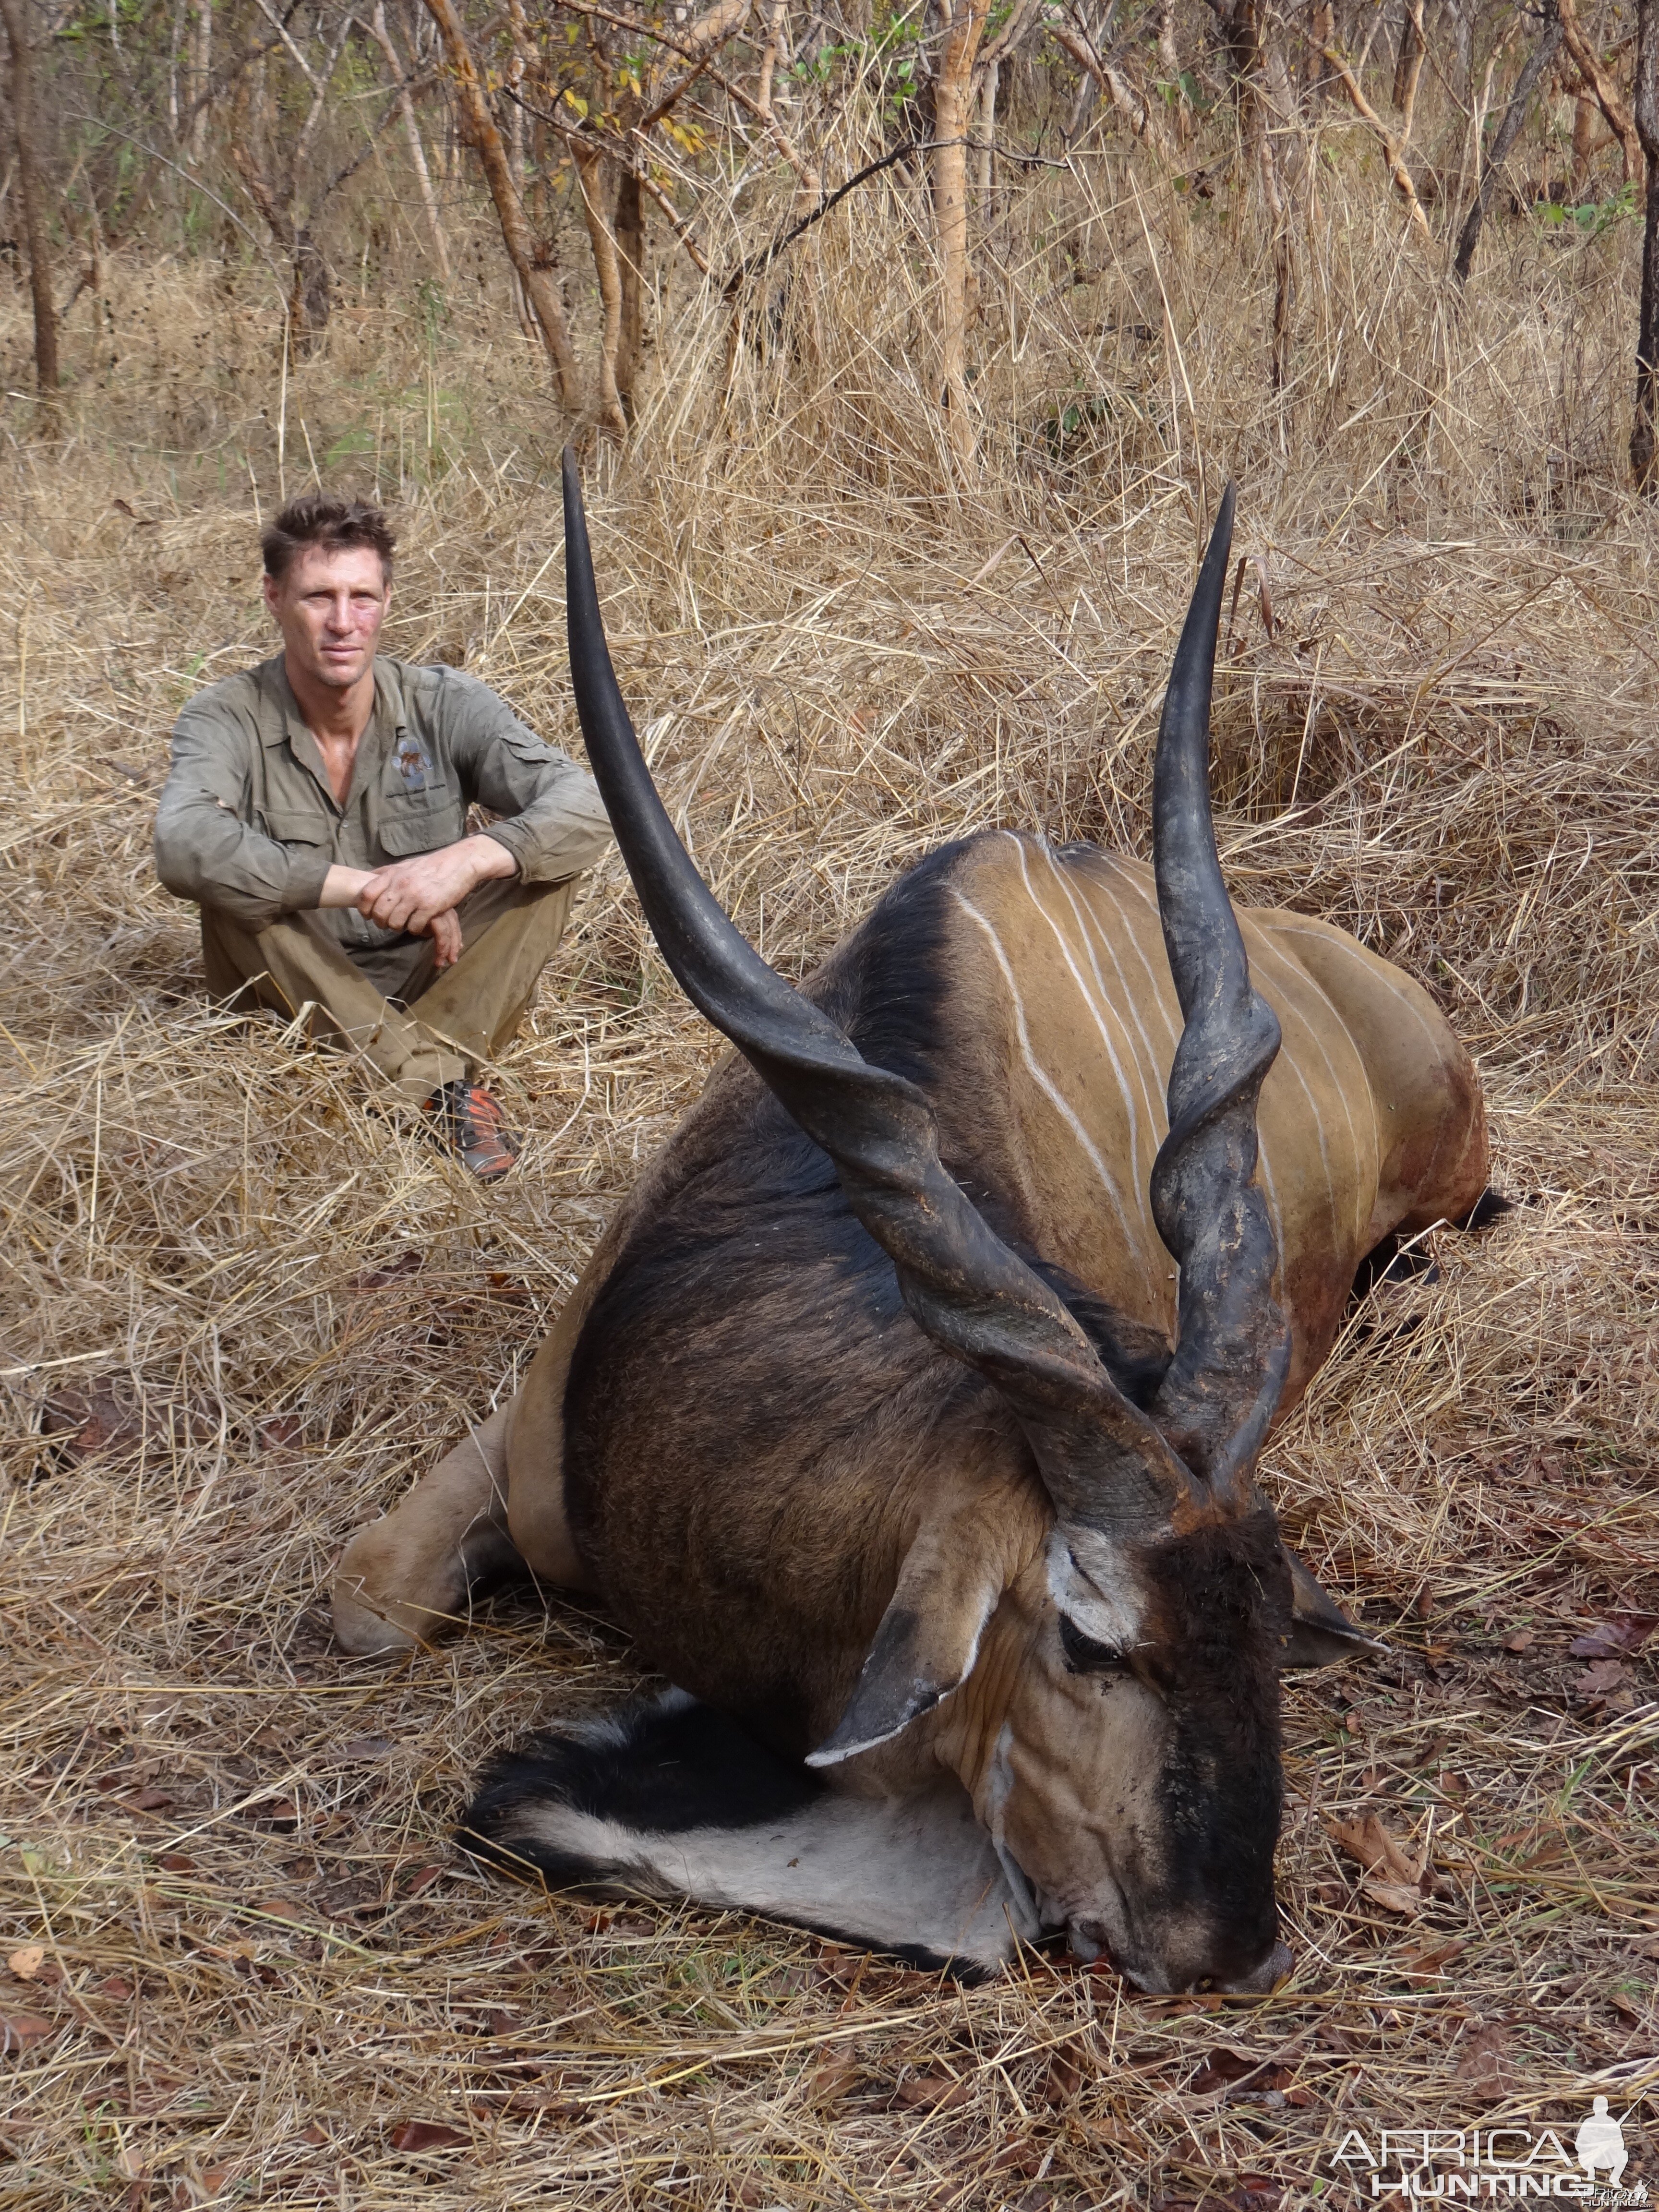
[[[571,681],[588,761],[681,989],[830,1155],[852,1210],[891,1259],[911,1318],[1009,1400],[1060,1517],[1095,1528],[1166,1522],[1192,1495],[1188,1471],[1117,1391],[1062,1301],[945,1172],[927,1097],[863,1060],[761,960],[679,843],[611,666],[568,449],[564,562]]]

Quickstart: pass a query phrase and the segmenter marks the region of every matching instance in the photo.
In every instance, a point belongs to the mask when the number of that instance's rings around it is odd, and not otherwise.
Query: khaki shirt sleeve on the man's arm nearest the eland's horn
[[[445,670],[442,712],[467,796],[498,814],[493,836],[524,883],[562,883],[593,867],[611,843],[599,785],[546,745],[487,684]]]

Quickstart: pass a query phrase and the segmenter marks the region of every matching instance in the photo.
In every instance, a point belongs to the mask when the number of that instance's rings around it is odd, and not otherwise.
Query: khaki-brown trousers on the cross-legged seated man
[[[456,907],[460,960],[438,973],[431,938],[376,951],[365,973],[316,914],[283,914],[250,929],[221,907],[201,909],[208,991],[270,1006],[290,1020],[307,1002],[314,1033],[361,1053],[403,1097],[420,1104],[471,1075],[518,1033],[542,969],[564,936],[575,876],[520,883],[495,876]]]

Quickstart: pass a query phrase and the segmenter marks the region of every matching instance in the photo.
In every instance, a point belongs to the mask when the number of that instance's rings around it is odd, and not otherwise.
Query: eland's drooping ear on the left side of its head
[[[1009,1579],[991,1515],[929,1522],[905,1553],[847,1710],[807,1765],[834,1767],[872,1752],[958,1690]]]

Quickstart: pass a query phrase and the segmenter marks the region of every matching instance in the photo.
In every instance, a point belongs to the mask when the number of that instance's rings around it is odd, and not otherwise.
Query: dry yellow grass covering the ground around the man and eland
[[[314,460],[398,507],[396,650],[465,653],[571,741],[557,422],[498,296],[436,330],[347,303],[283,389],[259,283],[168,263],[117,265],[115,367],[71,325],[55,445],[9,403],[0,2205],[1265,2212],[1354,2201],[1347,2128],[1577,2124],[1597,2086],[1659,2179],[1652,1661],[1568,1652],[1659,1613],[1630,246],[1493,226],[1455,323],[1363,135],[1329,144],[1283,400],[1248,219],[1091,157],[1009,186],[982,252],[982,487],[940,473],[898,190],[814,232],[730,374],[675,272],[646,418],[591,467],[664,787],[790,973],[942,836],[1144,841],[1241,478],[1232,880],[1440,991],[1524,1201],[1431,1239],[1438,1279],[1356,1316],[1270,1455],[1396,1652],[1290,1690],[1270,2002],[1048,1958],[964,1993],[453,1854],[482,1756],[626,1690],[626,1648],[513,1595],[367,1666],[319,1593],[511,1389],[712,1044],[611,865],[500,1068],[531,1141],[484,1192],[347,1064],[201,1002],[148,830],[175,708],[265,650],[279,431],[290,489]],[[1334,1840],[1371,1816],[1413,1896]]]

